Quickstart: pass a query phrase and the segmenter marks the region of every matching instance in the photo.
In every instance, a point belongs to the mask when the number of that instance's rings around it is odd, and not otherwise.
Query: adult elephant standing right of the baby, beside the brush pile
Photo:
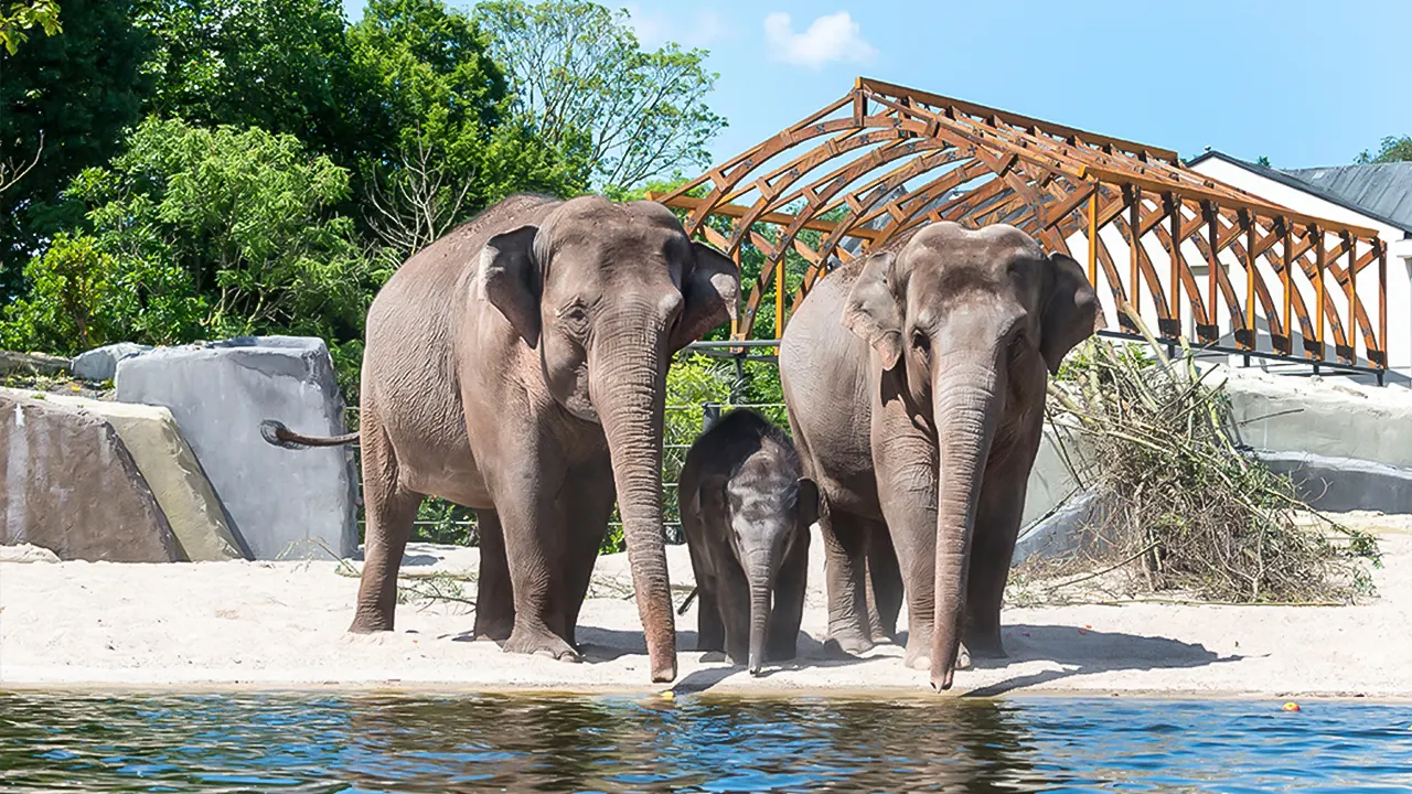
[[[809,292],[779,374],[823,500],[832,640],[873,646],[866,562],[875,588],[887,581],[875,562],[890,534],[908,665],[946,689],[963,633],[966,651],[1004,656],[1000,606],[1048,373],[1096,319],[1077,263],[1005,225],[929,225]],[[878,589],[880,610],[890,596]]]

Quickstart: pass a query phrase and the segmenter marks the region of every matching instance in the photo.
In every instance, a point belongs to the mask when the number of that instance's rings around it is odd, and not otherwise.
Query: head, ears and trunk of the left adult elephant
[[[676,675],[662,537],[672,353],[736,316],[740,270],[655,202],[563,202],[481,251],[486,298],[539,355],[549,396],[603,425],[654,681]]]

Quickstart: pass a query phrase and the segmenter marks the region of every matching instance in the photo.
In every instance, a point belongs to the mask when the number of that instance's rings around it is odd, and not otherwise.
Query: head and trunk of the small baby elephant
[[[771,595],[789,545],[819,520],[819,489],[809,478],[795,478],[798,462],[754,455],[723,483],[730,523],[730,547],[746,572],[750,591],[750,648],[747,670],[760,675],[765,660]],[[737,654],[738,648],[727,648]],[[738,658],[736,660],[738,664]]]

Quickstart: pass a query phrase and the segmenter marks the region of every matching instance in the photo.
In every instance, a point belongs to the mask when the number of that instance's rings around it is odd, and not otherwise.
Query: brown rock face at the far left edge
[[[103,417],[0,394],[0,544],[61,559],[174,562],[181,545],[123,439]]]

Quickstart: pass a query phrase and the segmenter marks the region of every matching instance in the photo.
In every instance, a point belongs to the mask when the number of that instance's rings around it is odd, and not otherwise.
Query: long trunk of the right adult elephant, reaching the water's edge
[[[931,678],[938,691],[950,689],[960,653],[971,533],[1000,408],[1001,376],[993,356],[940,360],[933,370],[940,483]]]

